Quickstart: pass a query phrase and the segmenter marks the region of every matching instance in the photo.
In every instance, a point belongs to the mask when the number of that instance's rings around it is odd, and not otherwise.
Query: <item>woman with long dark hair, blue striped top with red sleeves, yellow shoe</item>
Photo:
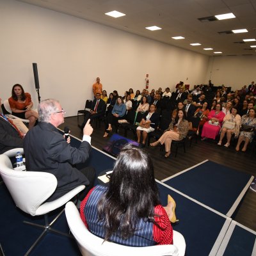
[[[80,207],[92,234],[127,246],[172,244],[174,211],[173,199],[166,207],[160,204],[150,157],[132,145],[117,157],[109,187],[93,188]]]

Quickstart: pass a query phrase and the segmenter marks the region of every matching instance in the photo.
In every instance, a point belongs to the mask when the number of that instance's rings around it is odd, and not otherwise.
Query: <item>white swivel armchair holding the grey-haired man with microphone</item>
[[[21,150],[20,150],[21,151]],[[17,148],[13,152],[8,152],[8,156],[15,154]],[[68,200],[76,196],[80,191],[82,191],[85,186],[77,186],[77,188],[72,189],[67,194],[61,196],[60,198],[52,201],[45,202],[49,196],[54,193],[57,186],[57,179],[51,173],[46,172],[19,172],[12,169],[12,163],[9,157],[2,154],[0,155],[0,173],[1,177],[8,188],[8,191],[12,195],[12,198],[22,211],[30,214],[31,216],[43,215],[45,218],[45,225],[38,225],[28,221],[24,221],[29,225],[34,225],[36,227],[43,228],[44,231],[36,239],[35,243],[29,248],[26,255],[28,255],[35,245],[40,241],[47,231],[51,231],[64,236],[70,236],[59,230],[51,228],[51,225],[57,218],[61,215],[64,209],[56,216],[56,218],[49,223],[47,218],[47,213],[55,209],[58,209],[62,205],[66,204]]]

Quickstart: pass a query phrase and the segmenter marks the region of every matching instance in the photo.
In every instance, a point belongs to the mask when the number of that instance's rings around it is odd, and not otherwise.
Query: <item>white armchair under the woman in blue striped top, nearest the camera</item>
[[[65,214],[73,236],[83,256],[184,256],[186,250],[185,239],[177,231],[173,231],[173,244],[147,247],[132,247],[110,243],[90,233],[80,218],[76,205],[68,202]]]

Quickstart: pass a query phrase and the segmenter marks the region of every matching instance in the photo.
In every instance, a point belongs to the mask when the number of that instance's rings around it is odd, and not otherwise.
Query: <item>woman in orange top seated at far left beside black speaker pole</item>
[[[28,127],[31,129],[35,125],[36,119],[38,119],[38,113],[31,110],[33,107],[31,95],[27,92],[25,93],[20,84],[14,84],[12,87],[12,97],[8,100],[12,109],[12,115],[22,119],[28,119]]]

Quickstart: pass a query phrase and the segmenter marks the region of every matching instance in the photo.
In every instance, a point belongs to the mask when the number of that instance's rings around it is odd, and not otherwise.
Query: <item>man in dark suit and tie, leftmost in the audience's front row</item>
[[[90,109],[90,111],[84,115],[84,122],[81,129],[83,129],[88,119],[92,121],[94,118],[104,116],[105,111],[106,103],[104,100],[100,99],[100,93],[96,93],[95,99],[92,102],[92,109]]]

